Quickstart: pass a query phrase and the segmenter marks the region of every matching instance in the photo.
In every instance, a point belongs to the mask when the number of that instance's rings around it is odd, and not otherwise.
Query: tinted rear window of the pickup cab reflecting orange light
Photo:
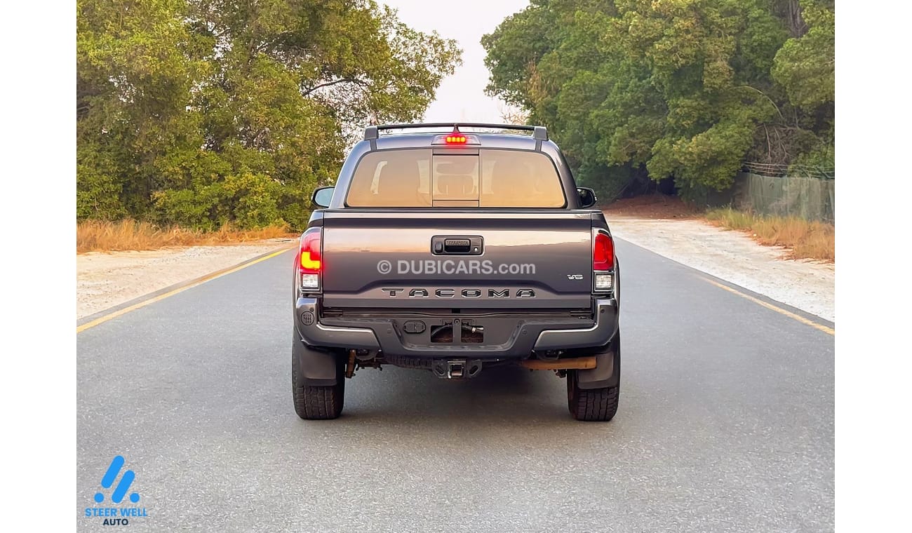
[[[350,207],[561,208],[561,179],[539,152],[480,149],[434,155],[431,149],[364,156],[348,188]]]

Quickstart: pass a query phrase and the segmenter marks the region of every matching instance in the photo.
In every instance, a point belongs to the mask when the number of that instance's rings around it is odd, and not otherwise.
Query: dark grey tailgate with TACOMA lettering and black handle
[[[567,210],[326,210],[323,304],[588,309],[591,228]]]

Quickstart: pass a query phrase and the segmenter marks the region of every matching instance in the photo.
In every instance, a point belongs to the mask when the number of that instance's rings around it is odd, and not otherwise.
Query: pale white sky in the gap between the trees
[[[437,30],[456,39],[462,48],[462,67],[444,78],[437,99],[424,115],[425,122],[502,122],[498,99],[487,97],[488,69],[484,67],[482,36],[489,34],[507,15],[520,11],[528,0],[379,0],[399,10],[399,20],[422,32]]]

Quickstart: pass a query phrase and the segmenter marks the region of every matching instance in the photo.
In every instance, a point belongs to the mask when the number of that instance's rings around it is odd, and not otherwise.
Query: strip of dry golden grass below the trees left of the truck
[[[234,244],[295,236],[284,226],[262,230],[236,230],[223,226],[218,231],[196,231],[177,226],[161,228],[135,220],[85,220],[76,226],[76,251],[157,250],[168,246]]]

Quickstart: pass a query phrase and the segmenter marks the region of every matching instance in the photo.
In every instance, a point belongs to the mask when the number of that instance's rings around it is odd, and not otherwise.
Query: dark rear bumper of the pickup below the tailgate
[[[573,320],[570,317],[560,320],[538,319],[534,315],[523,317],[511,326],[503,342],[496,344],[413,342],[415,337],[402,331],[404,319],[362,319],[355,327],[333,319],[322,319],[318,310],[316,298],[298,298],[295,302],[295,327],[306,344],[382,350],[384,354],[413,357],[524,359],[534,351],[604,346],[617,332],[617,301],[614,299],[596,300],[594,321]],[[488,319],[479,319],[479,322],[485,320]]]

